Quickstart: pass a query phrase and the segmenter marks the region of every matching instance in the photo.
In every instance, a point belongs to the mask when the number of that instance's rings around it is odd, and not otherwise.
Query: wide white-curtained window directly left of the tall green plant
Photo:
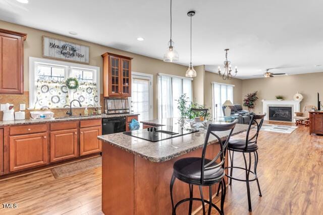
[[[158,118],[180,116],[177,100],[185,93],[192,101],[192,80],[179,76],[158,74]]]

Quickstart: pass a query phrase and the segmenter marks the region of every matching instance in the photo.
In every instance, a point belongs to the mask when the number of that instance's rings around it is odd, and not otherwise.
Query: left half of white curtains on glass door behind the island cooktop
[[[158,76],[158,118],[173,116],[172,78]]]

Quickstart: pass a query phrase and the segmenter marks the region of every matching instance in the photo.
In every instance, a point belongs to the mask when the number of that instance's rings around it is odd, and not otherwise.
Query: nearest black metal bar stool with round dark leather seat
[[[201,158],[183,158],[174,163],[173,175],[170,184],[170,192],[171,192],[171,201],[172,201],[172,214],[176,214],[176,208],[183,202],[189,202],[189,214],[192,214],[192,203],[193,200],[201,201],[203,207],[203,214],[205,214],[205,205],[204,202],[209,204],[208,207],[208,214],[211,213],[211,206],[216,208],[216,210],[220,214],[224,214],[224,200],[226,196],[226,183],[224,180],[225,171],[224,171],[224,164],[225,164],[225,156],[227,147],[229,144],[229,139],[233,132],[234,127],[236,126],[238,120],[235,120],[232,123],[226,124],[210,124],[207,128],[204,145],[202,149],[202,157]],[[221,140],[217,133],[214,131],[228,131],[228,137],[226,140]],[[210,137],[210,134],[216,137],[220,145],[219,153],[214,157],[213,160],[209,160],[205,158],[205,152],[207,143]],[[220,159],[220,162],[217,160]],[[175,180],[178,179],[184,183],[189,185],[190,197],[185,198],[177,202],[174,206],[173,201],[173,185]],[[219,183],[221,186],[221,209],[212,203],[212,189],[211,186],[213,184]],[[193,185],[197,185],[200,190],[201,198],[193,198]],[[203,199],[203,192],[202,186],[209,187],[209,201]]]

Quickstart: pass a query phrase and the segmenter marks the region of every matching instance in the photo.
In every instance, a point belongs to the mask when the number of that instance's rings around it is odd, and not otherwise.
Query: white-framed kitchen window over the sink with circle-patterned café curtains
[[[99,67],[42,58],[29,58],[29,108],[69,108],[78,100],[82,107],[99,106]],[[69,90],[65,81],[75,77],[79,87]],[[73,103],[78,107],[78,103]]]

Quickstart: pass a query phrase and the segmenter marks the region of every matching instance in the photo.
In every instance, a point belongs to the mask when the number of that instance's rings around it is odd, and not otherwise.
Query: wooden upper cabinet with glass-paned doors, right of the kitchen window
[[[131,96],[131,57],[104,53],[103,57],[103,96]]]

